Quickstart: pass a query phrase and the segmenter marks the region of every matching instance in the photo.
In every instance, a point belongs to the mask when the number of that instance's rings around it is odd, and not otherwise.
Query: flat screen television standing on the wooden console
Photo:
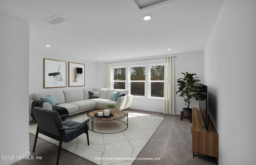
[[[204,121],[204,126],[206,131],[209,130],[209,115],[208,115],[208,88],[206,85],[200,83],[198,90],[199,97],[199,108],[201,111],[202,119]]]

